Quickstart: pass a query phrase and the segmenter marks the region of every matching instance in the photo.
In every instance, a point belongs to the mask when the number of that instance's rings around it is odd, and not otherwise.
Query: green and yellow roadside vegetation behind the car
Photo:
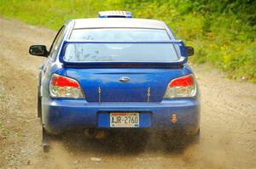
[[[1,0],[0,14],[57,30],[66,20],[113,9],[166,21],[179,39],[194,46],[192,62],[209,62],[230,78],[256,82],[254,0]]]

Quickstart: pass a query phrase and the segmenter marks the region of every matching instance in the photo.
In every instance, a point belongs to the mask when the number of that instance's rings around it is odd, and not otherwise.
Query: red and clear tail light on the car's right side
[[[166,89],[165,99],[195,97],[196,82],[193,75],[173,79]]]

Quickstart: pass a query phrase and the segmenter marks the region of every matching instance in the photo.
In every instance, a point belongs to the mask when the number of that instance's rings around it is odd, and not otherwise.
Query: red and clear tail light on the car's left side
[[[49,93],[53,98],[84,98],[79,82],[67,76],[53,74],[49,83]]]

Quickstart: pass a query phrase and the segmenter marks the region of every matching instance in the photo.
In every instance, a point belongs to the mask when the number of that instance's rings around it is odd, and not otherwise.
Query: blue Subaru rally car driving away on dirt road
[[[192,47],[160,20],[100,13],[69,20],[38,74],[38,117],[46,136],[70,129],[148,128],[198,134],[199,91],[187,64]]]

